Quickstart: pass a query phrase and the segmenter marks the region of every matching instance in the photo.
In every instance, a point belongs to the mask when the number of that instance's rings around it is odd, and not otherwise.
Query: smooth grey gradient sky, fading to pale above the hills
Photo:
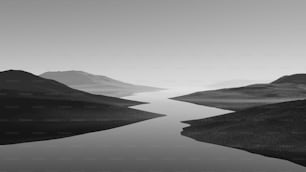
[[[304,0],[0,0],[0,70],[159,87],[306,73]]]

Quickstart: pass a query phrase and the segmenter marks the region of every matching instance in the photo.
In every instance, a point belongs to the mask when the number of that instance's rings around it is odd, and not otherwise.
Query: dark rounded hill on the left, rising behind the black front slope
[[[0,72],[0,93],[10,96],[86,101],[125,107],[142,104],[136,101],[93,95],[72,89],[57,81],[17,70]]]

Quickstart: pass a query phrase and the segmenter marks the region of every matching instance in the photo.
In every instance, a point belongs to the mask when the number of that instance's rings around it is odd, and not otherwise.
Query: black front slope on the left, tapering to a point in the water
[[[162,115],[67,100],[0,98],[0,145],[64,138]]]

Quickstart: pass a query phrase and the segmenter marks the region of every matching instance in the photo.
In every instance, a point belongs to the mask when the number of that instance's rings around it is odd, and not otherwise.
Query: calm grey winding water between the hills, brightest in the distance
[[[304,172],[305,167],[180,135],[184,120],[227,111],[167,99],[187,92],[127,97],[167,116],[129,126],[51,141],[0,146],[0,171],[86,172]]]

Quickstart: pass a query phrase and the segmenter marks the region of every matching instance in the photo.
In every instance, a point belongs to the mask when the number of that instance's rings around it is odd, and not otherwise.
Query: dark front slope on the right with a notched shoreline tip
[[[306,166],[306,100],[185,121],[182,135]]]

